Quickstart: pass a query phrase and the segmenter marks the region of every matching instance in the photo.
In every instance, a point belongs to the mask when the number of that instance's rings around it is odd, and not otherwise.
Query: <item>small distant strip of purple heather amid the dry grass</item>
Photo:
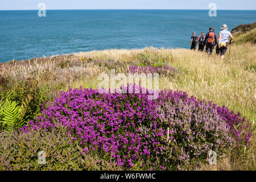
[[[138,67],[138,66],[130,66],[129,67],[129,73],[159,73],[163,75],[174,75],[176,72],[175,68],[169,67],[169,66],[163,66],[163,67],[153,67],[151,65],[148,65],[146,67]]]

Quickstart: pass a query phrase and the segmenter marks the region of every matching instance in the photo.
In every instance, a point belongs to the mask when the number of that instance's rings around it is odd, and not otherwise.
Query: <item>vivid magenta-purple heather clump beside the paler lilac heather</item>
[[[134,160],[147,159],[151,152],[163,148],[158,146],[164,131],[157,122],[157,106],[146,94],[100,94],[93,89],[70,88],[23,130],[49,130],[60,122],[74,139],[82,140],[85,152],[110,154],[117,164],[133,166]],[[148,126],[147,135],[141,133],[143,126]]]

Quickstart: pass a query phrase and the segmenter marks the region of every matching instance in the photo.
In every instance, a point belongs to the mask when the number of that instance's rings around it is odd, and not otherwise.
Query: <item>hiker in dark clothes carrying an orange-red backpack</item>
[[[206,45],[206,52],[212,55],[214,46],[217,45],[217,36],[214,32],[214,28],[210,27],[209,32],[205,36],[204,44]]]

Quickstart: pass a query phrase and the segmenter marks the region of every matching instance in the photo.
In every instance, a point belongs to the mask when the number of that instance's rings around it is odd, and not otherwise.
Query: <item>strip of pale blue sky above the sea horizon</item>
[[[255,10],[255,0],[0,0],[0,10],[36,10],[38,4],[47,10],[63,9],[208,9],[216,3],[217,10]]]

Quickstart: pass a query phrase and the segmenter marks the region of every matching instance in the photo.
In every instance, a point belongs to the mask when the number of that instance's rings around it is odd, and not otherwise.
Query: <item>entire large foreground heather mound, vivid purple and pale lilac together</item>
[[[142,169],[187,169],[207,159],[210,150],[221,155],[250,142],[246,119],[225,106],[185,92],[162,90],[156,100],[148,94],[69,88],[20,130],[50,131],[60,123],[85,152],[112,158],[127,169],[138,162]]]

